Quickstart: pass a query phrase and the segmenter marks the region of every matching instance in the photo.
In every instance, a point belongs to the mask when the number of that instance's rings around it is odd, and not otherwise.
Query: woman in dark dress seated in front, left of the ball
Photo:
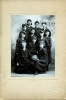
[[[31,55],[26,49],[26,42],[22,41],[18,48],[17,62],[14,71],[16,73],[33,73],[34,63],[30,60]]]

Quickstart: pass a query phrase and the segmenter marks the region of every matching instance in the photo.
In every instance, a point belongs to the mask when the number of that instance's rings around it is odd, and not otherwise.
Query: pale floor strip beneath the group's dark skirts
[[[11,72],[11,76],[12,77],[22,77],[22,76],[34,76],[33,74],[16,74],[13,72],[13,69],[12,69],[12,72]],[[42,73],[42,74],[38,74],[36,76],[55,76],[55,66],[54,64],[50,64],[49,65],[49,71],[46,71],[46,73]]]

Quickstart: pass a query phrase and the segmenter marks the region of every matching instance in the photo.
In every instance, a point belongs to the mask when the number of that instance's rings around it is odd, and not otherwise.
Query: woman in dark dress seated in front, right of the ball
[[[38,58],[36,59],[36,73],[46,72],[48,66],[48,54],[44,41],[39,41]]]

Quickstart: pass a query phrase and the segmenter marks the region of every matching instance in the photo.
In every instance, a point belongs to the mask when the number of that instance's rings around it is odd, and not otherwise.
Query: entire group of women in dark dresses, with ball
[[[16,73],[38,74],[49,70],[51,63],[51,32],[47,28],[47,23],[43,22],[41,29],[39,22],[27,20],[27,24],[22,24],[22,31],[19,33],[15,49],[15,69]]]

